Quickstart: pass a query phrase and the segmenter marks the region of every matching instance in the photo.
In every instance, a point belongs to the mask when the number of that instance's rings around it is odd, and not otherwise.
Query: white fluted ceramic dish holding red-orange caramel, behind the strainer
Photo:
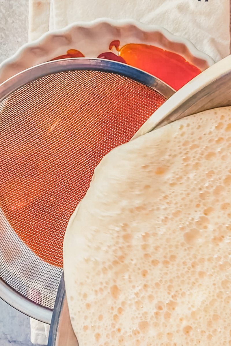
[[[57,57],[103,57],[145,70],[148,65],[145,59],[149,53],[151,54],[149,56],[151,64],[152,60],[156,63],[155,59],[160,53],[161,67],[168,76],[171,76],[171,71],[174,71],[175,67],[168,73],[162,64],[162,60],[165,58],[165,56],[161,56],[162,50],[170,54],[170,61],[179,57],[180,61],[177,64],[181,64],[181,62],[184,64],[186,61],[188,66],[193,66],[196,71],[190,76],[186,76],[186,79],[179,85],[171,85],[169,80],[162,78],[174,89],[179,89],[179,86],[183,86],[194,75],[214,64],[210,56],[198,51],[187,39],[173,35],[160,26],[147,26],[133,20],[118,21],[103,18],[92,22],[76,22],[64,29],[48,32],[38,40],[22,46],[15,55],[0,65],[0,83],[29,67]],[[70,54],[66,55],[67,52]],[[79,53],[76,55],[76,52]],[[105,53],[107,53],[106,57]],[[121,58],[125,61],[122,61]],[[157,71],[159,70],[158,67]],[[155,69],[151,69],[151,71],[149,69],[146,72],[156,75]],[[159,78],[161,79],[161,76]]]

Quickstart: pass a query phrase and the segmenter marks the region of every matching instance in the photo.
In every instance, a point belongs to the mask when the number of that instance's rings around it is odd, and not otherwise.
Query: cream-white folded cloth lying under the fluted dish
[[[215,61],[230,54],[230,0],[29,0],[29,40],[102,17],[160,25]],[[31,320],[32,343],[46,344],[47,333],[47,325]]]

